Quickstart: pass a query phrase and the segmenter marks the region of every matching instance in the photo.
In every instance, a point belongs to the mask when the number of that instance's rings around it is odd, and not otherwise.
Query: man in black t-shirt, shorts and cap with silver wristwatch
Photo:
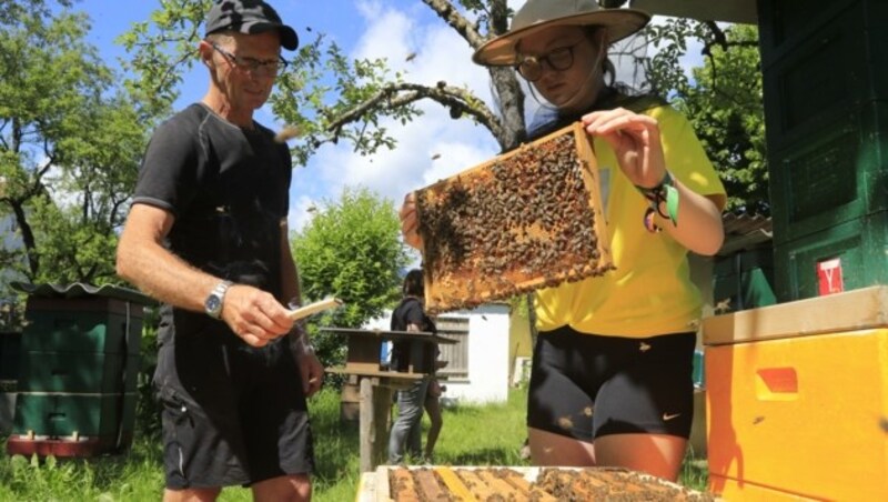
[[[154,133],[118,247],[118,273],[164,302],[154,385],[164,500],[309,500],[305,396],[323,368],[293,325],[299,278],[287,242],[292,163],[253,121],[295,31],[260,0],[222,0],[200,42],[201,102]],[[289,333],[291,333],[289,337]]]

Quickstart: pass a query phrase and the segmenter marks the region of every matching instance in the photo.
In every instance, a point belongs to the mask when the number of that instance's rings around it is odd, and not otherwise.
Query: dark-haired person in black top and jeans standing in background
[[[423,272],[413,269],[407,272],[402,287],[401,303],[392,312],[392,331],[423,331],[436,333],[435,323],[424,310],[425,285]],[[395,342],[392,348],[391,368],[407,370],[410,342]],[[421,460],[423,405],[426,401],[430,376],[411,383],[407,389],[397,391],[397,418],[392,423],[389,435],[389,464],[405,463],[405,454]]]

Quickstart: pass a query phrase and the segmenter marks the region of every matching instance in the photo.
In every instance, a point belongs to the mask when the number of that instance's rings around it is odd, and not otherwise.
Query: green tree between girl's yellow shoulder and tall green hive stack
[[[647,29],[659,50],[648,61],[654,88],[690,120],[728,192],[727,210],[769,213],[768,167],[758,31],[670,19]],[[704,43],[704,67],[690,78],[679,63],[687,41]]]

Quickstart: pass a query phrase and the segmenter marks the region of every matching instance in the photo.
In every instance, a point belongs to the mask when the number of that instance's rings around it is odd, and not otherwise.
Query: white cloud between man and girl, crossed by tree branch
[[[398,10],[375,0],[359,1],[357,8],[367,28],[352,50],[352,57],[386,58],[392,72],[405,73],[404,80],[408,82],[435,86],[444,80],[450,86],[466,87],[491,102],[487,71],[472,63],[468,43],[438,18],[422,24],[418,12]],[[416,8],[427,10],[424,6]],[[415,57],[408,60],[408,54]],[[312,178],[320,182],[315,184],[324,187],[323,193],[301,197],[337,197],[344,184],[362,185],[400,207],[405,193],[471,168],[498,152],[498,144],[487,129],[466,119],[453,120],[446,109],[428,100],[416,106],[424,113],[406,126],[392,120],[381,122],[397,140],[394,150],[383,149],[362,157],[345,143],[323,147],[307,167]],[[433,159],[436,154],[440,157]],[[301,191],[296,174],[293,191],[294,194]],[[291,212],[292,228],[300,228],[296,217]]]

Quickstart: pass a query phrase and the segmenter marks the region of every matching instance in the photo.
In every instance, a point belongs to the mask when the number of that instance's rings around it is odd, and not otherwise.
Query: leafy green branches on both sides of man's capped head
[[[210,0],[165,2],[150,21],[135,23],[121,36],[120,42],[131,53],[123,64],[135,76],[127,81],[127,87],[144,100],[143,110],[149,116],[164,113],[179,97],[182,74],[198,62],[196,48],[203,37],[201,24],[211,3]],[[410,103],[390,106],[389,100],[383,100],[366,107],[355,122],[333,122],[384,93],[383,88],[400,82],[401,76],[390,76],[383,59],[350,60],[323,34],[310,40],[302,31],[300,41],[301,47],[293,56],[283,54],[292,59],[292,64],[279,78],[270,99],[274,113],[300,131],[292,141],[294,163],[304,165],[321,144],[340,139],[352,142],[361,153],[373,153],[381,147],[394,148],[394,139],[380,127],[380,121],[383,117],[401,123],[410,121],[420,113]]]

